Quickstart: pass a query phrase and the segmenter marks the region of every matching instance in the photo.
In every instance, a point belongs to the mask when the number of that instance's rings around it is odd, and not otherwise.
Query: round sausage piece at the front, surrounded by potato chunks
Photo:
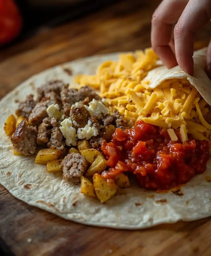
[[[87,162],[79,153],[68,154],[62,161],[63,179],[79,183],[81,176],[85,173]]]

